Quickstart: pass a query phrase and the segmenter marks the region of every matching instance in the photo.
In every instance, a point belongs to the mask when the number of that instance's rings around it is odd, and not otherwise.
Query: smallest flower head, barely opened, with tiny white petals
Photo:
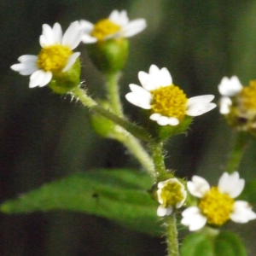
[[[170,215],[175,209],[183,206],[187,198],[187,191],[183,183],[179,182],[176,177],[167,179],[157,185],[157,200],[160,206],[157,209],[157,215]]]

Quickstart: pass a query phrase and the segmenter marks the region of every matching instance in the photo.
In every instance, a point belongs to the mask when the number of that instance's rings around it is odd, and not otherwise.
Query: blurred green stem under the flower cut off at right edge
[[[245,148],[247,146],[247,133],[239,131],[236,135],[236,142],[230,153],[230,159],[227,166],[227,172],[235,172],[241,162],[241,158],[244,154]]]

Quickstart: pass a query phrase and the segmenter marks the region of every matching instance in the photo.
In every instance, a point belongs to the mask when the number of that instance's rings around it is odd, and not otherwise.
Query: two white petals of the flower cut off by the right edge
[[[219,112],[222,114],[230,113],[230,106],[232,101],[230,97],[236,96],[242,90],[242,85],[240,80],[233,76],[230,79],[224,77],[220,84],[218,84],[218,91],[221,94],[221,99],[219,102]]]

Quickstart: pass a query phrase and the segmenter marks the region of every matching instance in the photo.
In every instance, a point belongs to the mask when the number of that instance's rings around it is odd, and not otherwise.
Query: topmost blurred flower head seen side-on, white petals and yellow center
[[[111,38],[130,38],[142,32],[147,26],[146,20],[129,20],[125,10],[113,10],[108,19],[99,20],[95,25],[80,20],[84,44],[93,44]]]

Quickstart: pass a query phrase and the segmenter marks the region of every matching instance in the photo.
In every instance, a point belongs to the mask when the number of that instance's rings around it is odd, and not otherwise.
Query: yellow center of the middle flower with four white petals
[[[168,85],[150,91],[153,96],[151,108],[154,113],[182,120],[186,113],[187,96],[176,85]]]

